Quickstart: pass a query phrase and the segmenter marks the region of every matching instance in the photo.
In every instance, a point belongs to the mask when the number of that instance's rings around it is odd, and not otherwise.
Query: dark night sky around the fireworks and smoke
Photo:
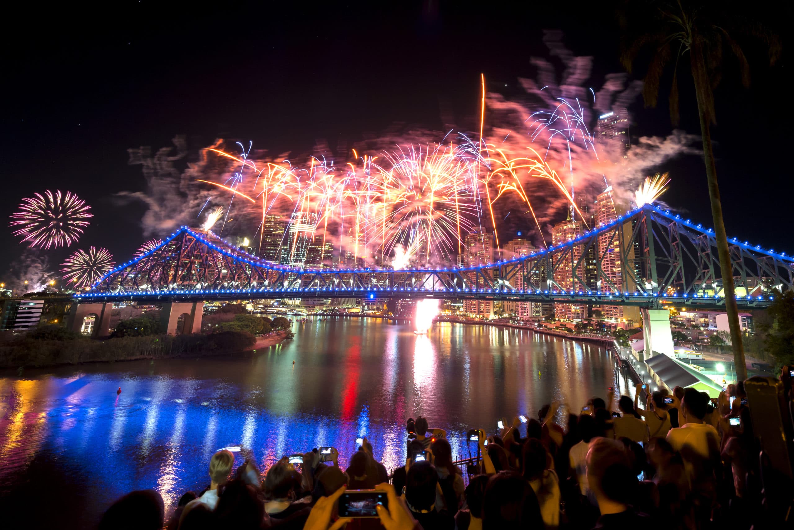
[[[579,9],[564,2],[545,9],[535,2],[510,8],[333,3],[144,1],[96,9],[70,3],[46,13],[27,3],[7,10],[0,156],[5,218],[22,197],[71,190],[92,206],[94,219],[79,244],[46,252],[51,265],[90,245],[125,261],[144,241],[145,211],[114,198],[145,190],[141,167],[128,164],[128,148],[156,150],[183,134],[188,159],[218,137],[227,145],[253,140],[255,148],[273,153],[309,152],[318,142],[352,145],[398,123],[440,130],[450,117],[459,129],[474,131],[480,72],[491,90],[520,91],[517,79],[536,73],[530,57],[547,55],[543,29],[561,29],[576,55],[594,56],[588,85],[601,86],[603,75],[622,71],[618,19],[598,2]],[[772,68],[763,49],[750,50],[750,90],[738,76],[726,75],[716,93],[712,134],[728,235],[794,252],[785,44]],[[682,76],[680,128],[698,133],[690,83]],[[668,87],[669,77],[665,94]],[[673,129],[665,97],[657,109],[644,109],[637,98],[630,114],[634,138]],[[700,157],[680,157],[658,169],[673,177],[666,202],[711,226]],[[6,249],[2,272],[25,246],[7,226],[0,244]]]

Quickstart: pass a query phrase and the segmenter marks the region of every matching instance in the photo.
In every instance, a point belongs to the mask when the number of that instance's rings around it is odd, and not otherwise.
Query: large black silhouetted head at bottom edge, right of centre
[[[483,496],[483,529],[503,528],[544,528],[532,486],[511,471],[492,475]]]

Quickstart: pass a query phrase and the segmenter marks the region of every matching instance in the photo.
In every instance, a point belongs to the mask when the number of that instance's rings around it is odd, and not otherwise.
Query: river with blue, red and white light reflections
[[[345,463],[367,436],[391,470],[407,417],[445,428],[459,455],[468,428],[493,432],[499,417],[553,399],[578,411],[615,385],[634,395],[599,345],[527,330],[437,323],[417,336],[341,317],[293,330],[250,355],[0,372],[0,506],[26,528],[91,528],[129,491],[155,489],[168,509],[201,490],[220,447],[266,467],[331,445]]]

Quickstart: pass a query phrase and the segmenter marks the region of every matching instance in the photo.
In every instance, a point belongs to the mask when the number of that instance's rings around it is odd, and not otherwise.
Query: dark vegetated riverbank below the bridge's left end
[[[264,336],[229,330],[209,334],[156,334],[96,340],[76,335],[64,328],[48,331],[0,335],[0,368],[43,368],[67,364],[234,355],[268,348],[291,336],[288,330]]]

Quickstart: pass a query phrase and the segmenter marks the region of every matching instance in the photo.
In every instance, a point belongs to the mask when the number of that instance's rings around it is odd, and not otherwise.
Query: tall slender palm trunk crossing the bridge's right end
[[[691,59],[692,77],[695,79],[695,93],[697,95],[698,113],[700,114],[700,133],[703,137],[703,159],[706,163],[708,198],[711,201],[711,217],[714,220],[717,255],[719,255],[719,269],[723,277],[723,294],[725,295],[725,310],[728,313],[730,342],[734,350],[736,378],[738,381],[744,381],[747,378],[747,365],[744,358],[744,344],[742,344],[742,328],[739,325],[738,305],[736,304],[736,294],[734,291],[733,266],[730,263],[728,238],[725,233],[725,223],[723,222],[723,204],[719,200],[717,169],[714,165],[714,151],[711,147],[711,116],[708,115],[706,95],[706,90],[711,90],[711,83],[708,79],[705,63],[703,62],[703,55],[699,47],[692,48]]]

